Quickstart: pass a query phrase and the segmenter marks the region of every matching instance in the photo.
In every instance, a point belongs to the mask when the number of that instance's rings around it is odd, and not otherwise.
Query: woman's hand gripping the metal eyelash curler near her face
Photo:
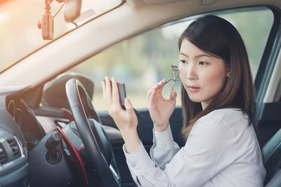
[[[148,90],[148,109],[156,132],[163,132],[169,124],[169,118],[176,106],[176,91],[172,90],[170,99],[164,99],[162,90],[166,79]]]

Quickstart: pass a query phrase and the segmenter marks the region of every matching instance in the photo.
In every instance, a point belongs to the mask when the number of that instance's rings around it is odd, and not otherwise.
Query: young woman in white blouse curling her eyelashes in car
[[[207,15],[192,22],[178,47],[185,146],[174,142],[169,118],[176,92],[162,96],[164,79],[148,91],[154,123],[150,156],[138,138],[129,99],[119,104],[117,82],[106,77],[103,95],[124,138],[138,186],[263,186],[266,170],[252,120],[254,86],[247,51],[230,22]],[[151,157],[151,158],[150,158]]]

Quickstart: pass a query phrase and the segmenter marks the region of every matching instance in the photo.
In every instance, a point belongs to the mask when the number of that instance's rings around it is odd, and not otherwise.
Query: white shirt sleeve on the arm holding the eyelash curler
[[[150,157],[157,167],[165,169],[165,165],[180,150],[180,147],[174,142],[171,134],[170,124],[164,132],[155,132],[153,130],[153,145],[150,148]]]

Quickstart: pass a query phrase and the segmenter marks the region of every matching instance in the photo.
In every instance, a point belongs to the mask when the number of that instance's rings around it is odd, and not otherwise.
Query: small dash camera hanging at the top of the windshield
[[[41,15],[41,19],[38,20],[38,28],[42,29],[42,36],[44,40],[53,39],[53,16],[48,11],[45,11]]]

